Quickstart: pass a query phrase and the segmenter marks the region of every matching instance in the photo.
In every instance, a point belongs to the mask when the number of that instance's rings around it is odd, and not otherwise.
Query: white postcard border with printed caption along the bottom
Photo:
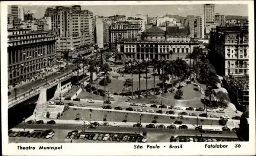
[[[204,148],[205,143],[183,143],[182,149],[169,149],[170,143],[157,143],[159,146],[166,146],[161,149],[134,149],[134,143],[110,143],[110,144],[45,144],[62,145],[61,151],[47,150],[24,150],[18,151],[17,144],[8,144],[7,125],[8,121],[8,96],[7,96],[7,6],[8,5],[172,5],[172,4],[248,4],[249,10],[249,142],[239,142],[241,148],[234,148],[234,142],[228,144],[229,148]],[[232,9],[232,8],[230,8]],[[46,2],[1,2],[1,96],[2,96],[2,149],[4,155],[254,155],[255,154],[255,88],[254,85],[254,8],[253,1],[46,1]],[[156,143],[149,143],[155,145]],[[179,143],[175,143],[179,144]],[[36,148],[41,144],[18,144],[31,145]]]

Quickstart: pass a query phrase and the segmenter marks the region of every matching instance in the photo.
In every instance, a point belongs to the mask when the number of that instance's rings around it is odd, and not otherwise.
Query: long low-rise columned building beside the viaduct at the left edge
[[[8,83],[28,78],[56,63],[56,33],[31,28],[8,29]]]

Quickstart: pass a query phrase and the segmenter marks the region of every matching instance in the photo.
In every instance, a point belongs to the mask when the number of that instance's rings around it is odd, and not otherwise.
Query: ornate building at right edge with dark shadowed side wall
[[[249,35],[248,29],[216,27],[210,32],[211,54],[216,55],[216,69],[221,75],[248,76]]]

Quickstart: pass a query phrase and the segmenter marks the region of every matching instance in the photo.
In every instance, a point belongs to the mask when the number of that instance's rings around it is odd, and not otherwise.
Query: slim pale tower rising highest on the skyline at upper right
[[[215,23],[215,4],[204,4],[204,26]]]

